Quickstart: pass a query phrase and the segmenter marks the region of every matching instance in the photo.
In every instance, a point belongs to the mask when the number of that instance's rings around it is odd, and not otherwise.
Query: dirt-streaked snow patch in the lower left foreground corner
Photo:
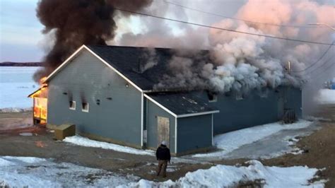
[[[0,157],[0,187],[109,187],[139,177],[30,157]]]

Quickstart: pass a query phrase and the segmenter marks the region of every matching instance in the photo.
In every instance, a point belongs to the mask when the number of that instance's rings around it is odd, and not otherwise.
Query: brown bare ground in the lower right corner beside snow
[[[281,167],[307,165],[309,168],[324,169],[317,172],[319,179],[328,180],[326,187],[335,187],[335,123],[320,124],[322,129],[298,141],[297,146],[302,148],[304,153],[287,154],[279,158],[262,160],[261,163]]]

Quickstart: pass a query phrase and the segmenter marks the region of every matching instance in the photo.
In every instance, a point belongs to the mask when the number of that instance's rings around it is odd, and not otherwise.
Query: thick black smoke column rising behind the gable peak
[[[152,0],[41,0],[37,17],[45,25],[44,34],[54,33],[54,45],[45,56],[45,68],[37,71],[35,81],[47,76],[81,45],[106,45],[117,25],[115,9],[138,11]]]

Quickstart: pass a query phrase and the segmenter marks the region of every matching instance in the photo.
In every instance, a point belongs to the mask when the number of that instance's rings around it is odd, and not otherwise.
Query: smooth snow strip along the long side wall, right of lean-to
[[[217,148],[223,150],[214,153],[196,154],[194,157],[219,157],[226,155],[237,148],[255,141],[264,139],[267,136],[287,129],[302,129],[309,127],[312,122],[299,120],[294,124],[281,124],[281,122],[264,124],[247,129],[228,132],[214,137],[214,144]]]

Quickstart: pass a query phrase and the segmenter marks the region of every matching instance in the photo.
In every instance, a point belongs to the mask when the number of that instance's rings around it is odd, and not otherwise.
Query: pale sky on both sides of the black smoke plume
[[[52,43],[43,40],[44,36],[41,33],[43,25],[40,24],[35,13],[37,1],[38,0],[0,1],[0,62],[41,61],[43,55],[45,54],[44,49],[47,47],[47,44]],[[247,0],[169,1],[215,13],[220,13],[224,10],[225,16],[234,16],[238,8]],[[320,0],[319,2],[334,5],[334,0]],[[163,0],[155,0],[155,4],[167,6],[167,4],[164,4]],[[159,8],[158,10],[160,9],[165,9],[166,14],[157,10],[153,13],[180,20],[186,19],[194,23],[211,25],[211,23],[220,19],[216,16],[209,16],[199,12],[183,10],[182,8],[173,5],[168,6],[168,8]],[[183,14],[185,14],[185,16],[183,16]],[[141,20],[148,19],[152,18],[136,18],[136,16],[132,16],[130,19],[122,20],[119,22],[119,30],[117,30],[117,33],[118,35],[121,35],[123,32],[129,32],[129,30],[133,33],[139,32],[139,30],[147,32],[148,29],[151,28],[141,28],[141,24],[139,23],[141,23]],[[156,21],[161,22],[162,20]],[[170,28],[175,29],[176,31],[182,30],[184,27],[189,27],[189,25],[178,25],[177,23],[169,23],[169,25]]]

